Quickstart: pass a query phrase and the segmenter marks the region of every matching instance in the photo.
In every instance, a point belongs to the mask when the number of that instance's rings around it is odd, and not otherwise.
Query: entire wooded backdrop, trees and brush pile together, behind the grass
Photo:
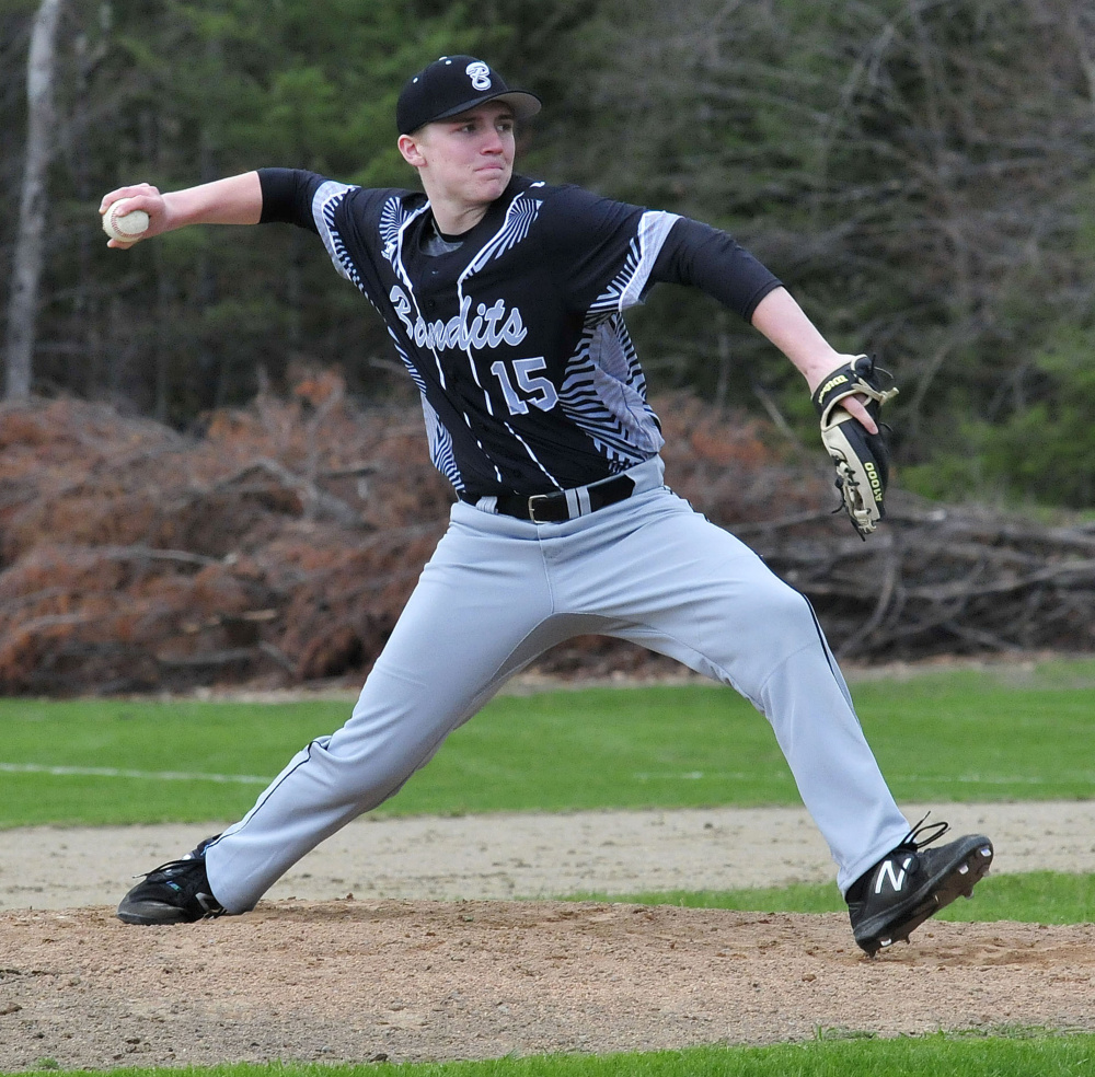
[[[97,207],[408,185],[395,97],[452,53],[543,97],[521,171],[726,229],[895,374],[861,543],[770,345],[684,289],[630,320],[671,484],[841,657],[1095,648],[1091,0],[0,0],[0,691],[368,668],[451,501],[379,320],[303,232],[118,253]]]

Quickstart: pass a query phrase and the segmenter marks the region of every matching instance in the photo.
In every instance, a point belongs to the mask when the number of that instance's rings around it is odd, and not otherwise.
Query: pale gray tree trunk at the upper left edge
[[[10,401],[25,401],[31,395],[34,325],[46,230],[46,173],[54,148],[57,24],[62,3],[64,0],[42,0],[34,16],[26,65],[26,159],[8,304],[4,394]]]

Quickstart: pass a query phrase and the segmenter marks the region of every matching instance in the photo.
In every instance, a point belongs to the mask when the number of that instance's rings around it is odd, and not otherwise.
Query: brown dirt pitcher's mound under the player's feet
[[[1092,925],[929,924],[868,960],[839,915],[345,900],[170,928],[8,912],[0,939],[9,1072],[1095,1029]]]

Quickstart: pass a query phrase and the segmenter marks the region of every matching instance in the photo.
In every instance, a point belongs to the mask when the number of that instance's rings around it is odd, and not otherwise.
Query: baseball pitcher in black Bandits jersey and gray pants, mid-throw
[[[816,391],[861,533],[881,514],[877,415],[891,391],[867,357],[838,355],[724,232],[515,174],[515,125],[540,106],[482,60],[441,57],[396,108],[422,192],[262,169],[103,199],[103,212],[127,198],[149,215],[141,240],[195,223],[318,235],[384,320],[457,497],[346,725],[300,751],[240,822],[149,872],[118,906],[126,923],[253,908],[318,843],[399,791],[509,678],[586,633],[669,655],[766,716],[867,953],[908,939],[988,870],[987,837],[929,849],[947,825],[901,814],[809,602],[664,484],[661,429],[623,314],[671,281],[763,334]]]

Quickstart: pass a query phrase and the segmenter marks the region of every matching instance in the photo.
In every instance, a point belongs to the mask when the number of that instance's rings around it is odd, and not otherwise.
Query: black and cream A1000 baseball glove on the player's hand
[[[841,508],[860,537],[866,540],[886,514],[883,500],[889,480],[889,449],[880,432],[867,433],[840,406],[842,399],[856,394],[866,398],[867,412],[876,424],[883,404],[897,396],[889,373],[875,367],[871,356],[856,356],[838,367],[817,387],[812,399],[821,418],[821,440],[837,465]]]

